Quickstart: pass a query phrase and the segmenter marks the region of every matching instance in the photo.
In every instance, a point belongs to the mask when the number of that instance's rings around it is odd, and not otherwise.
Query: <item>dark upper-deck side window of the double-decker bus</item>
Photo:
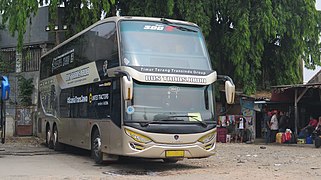
[[[118,66],[116,32],[115,23],[100,24],[61,46],[41,60],[40,78],[44,79],[92,61],[98,64],[107,61],[108,68]]]

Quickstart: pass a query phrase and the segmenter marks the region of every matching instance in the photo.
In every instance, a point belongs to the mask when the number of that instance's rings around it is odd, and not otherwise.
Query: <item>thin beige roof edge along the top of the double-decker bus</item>
[[[85,32],[89,31],[90,29],[92,29],[93,27],[102,24],[102,23],[106,23],[106,22],[116,22],[118,23],[118,21],[121,20],[132,20],[132,21],[159,21],[161,22],[162,19],[164,18],[156,18],[156,17],[134,17],[134,16],[113,16],[113,17],[108,17],[102,20],[97,21],[96,23],[90,25],[89,27],[87,27],[86,29],[82,30],[81,32],[73,35],[72,37],[70,37],[69,39],[65,40],[64,42],[60,43],[59,45],[57,45],[56,47],[52,48],[51,50],[49,50],[48,52],[46,52],[44,55],[41,56],[41,58],[43,58],[44,56],[46,56],[47,54],[50,54],[51,52],[55,51],[56,49],[59,49],[61,46],[67,44],[68,42],[72,41],[73,39],[79,37],[80,35],[84,34]],[[174,19],[166,19],[167,21],[170,21],[174,24],[183,24],[183,25],[190,25],[190,26],[197,26],[197,24],[192,23],[192,22],[187,22],[187,21],[181,21],[181,20],[174,20]]]

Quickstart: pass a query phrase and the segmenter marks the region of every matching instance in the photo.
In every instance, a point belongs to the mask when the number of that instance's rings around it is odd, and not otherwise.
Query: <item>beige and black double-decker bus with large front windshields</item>
[[[40,136],[54,149],[91,150],[176,162],[212,155],[216,139],[212,69],[200,28],[164,18],[110,17],[41,58]]]

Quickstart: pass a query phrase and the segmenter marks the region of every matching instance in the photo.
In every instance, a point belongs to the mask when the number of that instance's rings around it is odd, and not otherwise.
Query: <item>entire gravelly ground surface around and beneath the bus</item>
[[[217,154],[176,164],[123,159],[95,165],[88,151],[48,150],[38,143],[0,145],[0,179],[321,179],[321,149],[312,145],[217,144]]]

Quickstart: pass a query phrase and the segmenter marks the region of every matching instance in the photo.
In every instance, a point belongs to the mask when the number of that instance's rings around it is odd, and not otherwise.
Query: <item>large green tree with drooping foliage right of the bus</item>
[[[196,22],[205,32],[214,69],[233,77],[246,94],[267,85],[301,83],[302,60],[309,68],[320,65],[321,19],[315,1],[174,4],[176,17]]]

